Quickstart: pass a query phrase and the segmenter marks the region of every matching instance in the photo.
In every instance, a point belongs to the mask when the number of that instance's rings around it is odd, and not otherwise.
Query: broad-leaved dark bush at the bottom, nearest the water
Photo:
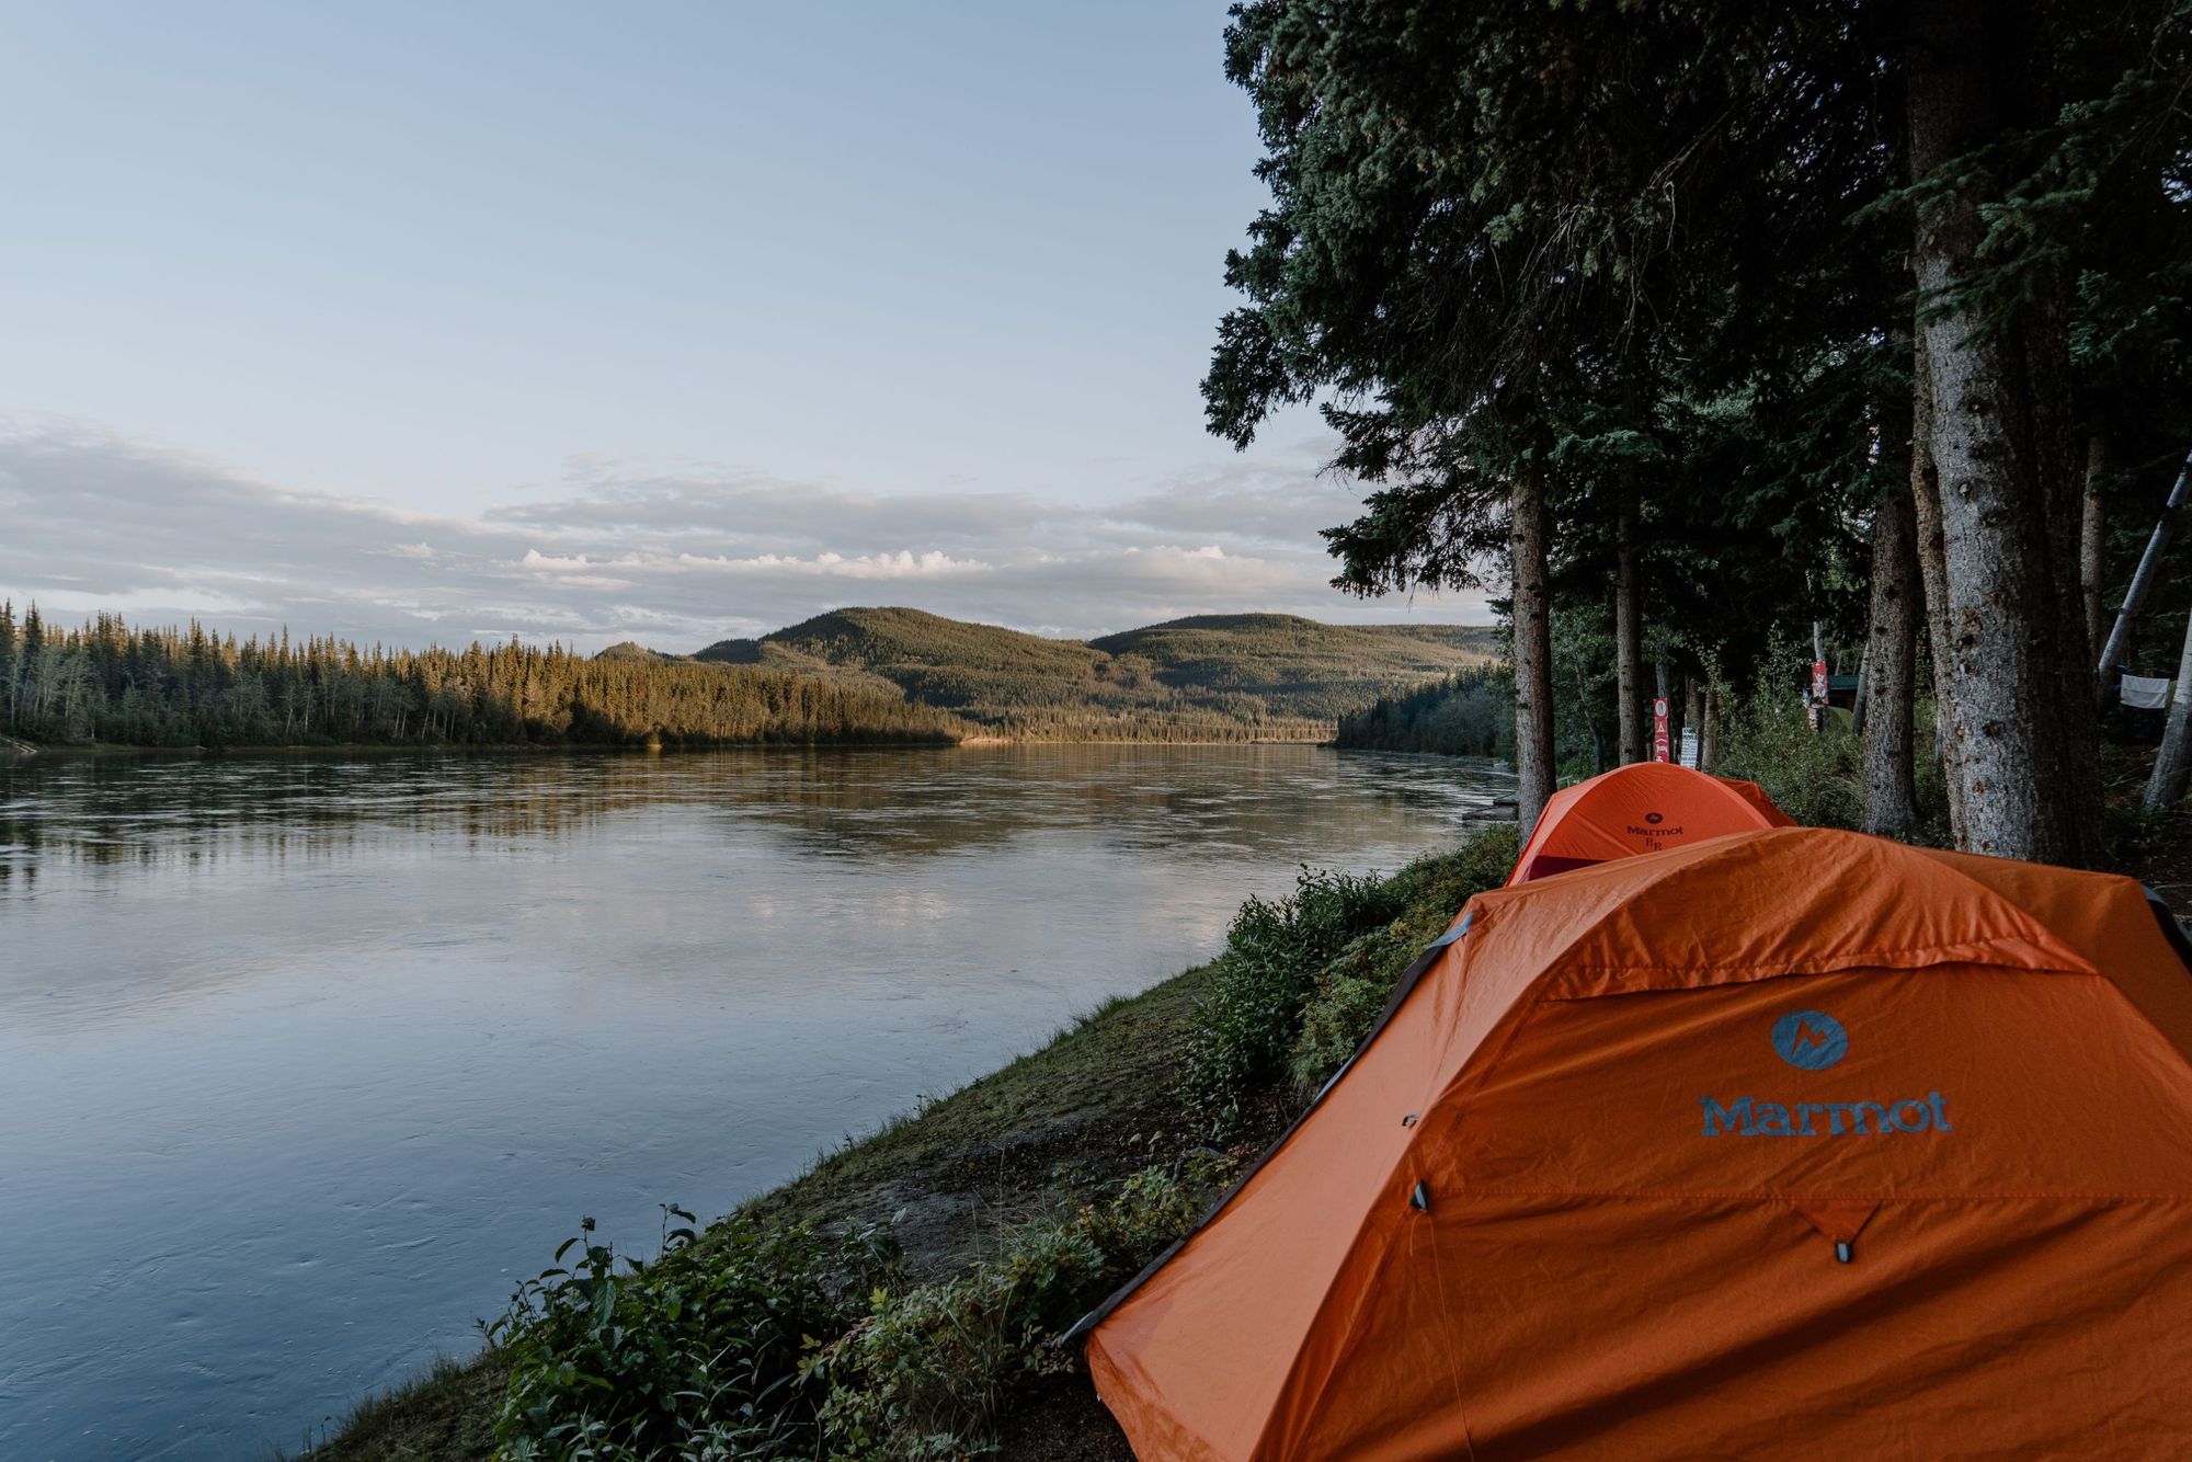
[[[671,1230],[671,1219],[684,1225]],[[831,1241],[745,1219],[701,1243],[690,1223],[664,1208],[662,1256],[642,1263],[618,1260],[585,1219],[557,1249],[559,1267],[517,1287],[489,1326],[511,1363],[500,1455],[813,1455],[820,1394],[802,1357],[894,1273],[890,1243],[870,1230]],[[563,1269],[572,1247],[579,1260]]]

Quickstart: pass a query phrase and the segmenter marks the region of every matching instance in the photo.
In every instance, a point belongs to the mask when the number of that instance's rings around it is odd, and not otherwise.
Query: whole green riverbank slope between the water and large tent
[[[1304,870],[1210,964],[673,1230],[664,1258],[583,1234],[498,1348],[366,1403],[311,1455],[1127,1458],[1048,1341],[1293,1120],[1512,844],[1491,829],[1390,879]]]

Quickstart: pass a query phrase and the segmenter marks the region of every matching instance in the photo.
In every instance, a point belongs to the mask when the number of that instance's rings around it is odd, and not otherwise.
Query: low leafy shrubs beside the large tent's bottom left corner
[[[1105,1203],[1013,1232],[969,1273],[870,1298],[870,1313],[807,1366],[829,1379],[829,1455],[861,1462],[991,1449],[1015,1383],[1078,1366],[1052,1341],[1195,1227],[1219,1173],[1144,1168]]]

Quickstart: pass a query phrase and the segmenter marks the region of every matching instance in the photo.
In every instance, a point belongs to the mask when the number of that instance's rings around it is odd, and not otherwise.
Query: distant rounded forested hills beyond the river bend
[[[693,655],[629,642],[601,655],[747,664],[888,688],[1030,741],[1322,739],[1385,690],[1495,660],[1497,631],[1201,614],[1096,640],[1050,640],[877,607],[833,609]]]

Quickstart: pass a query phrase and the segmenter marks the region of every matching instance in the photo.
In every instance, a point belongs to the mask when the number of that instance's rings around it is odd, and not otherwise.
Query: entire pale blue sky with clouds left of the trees
[[[1223,4],[0,0],[0,594],[688,651],[1357,601],[1197,381]]]

